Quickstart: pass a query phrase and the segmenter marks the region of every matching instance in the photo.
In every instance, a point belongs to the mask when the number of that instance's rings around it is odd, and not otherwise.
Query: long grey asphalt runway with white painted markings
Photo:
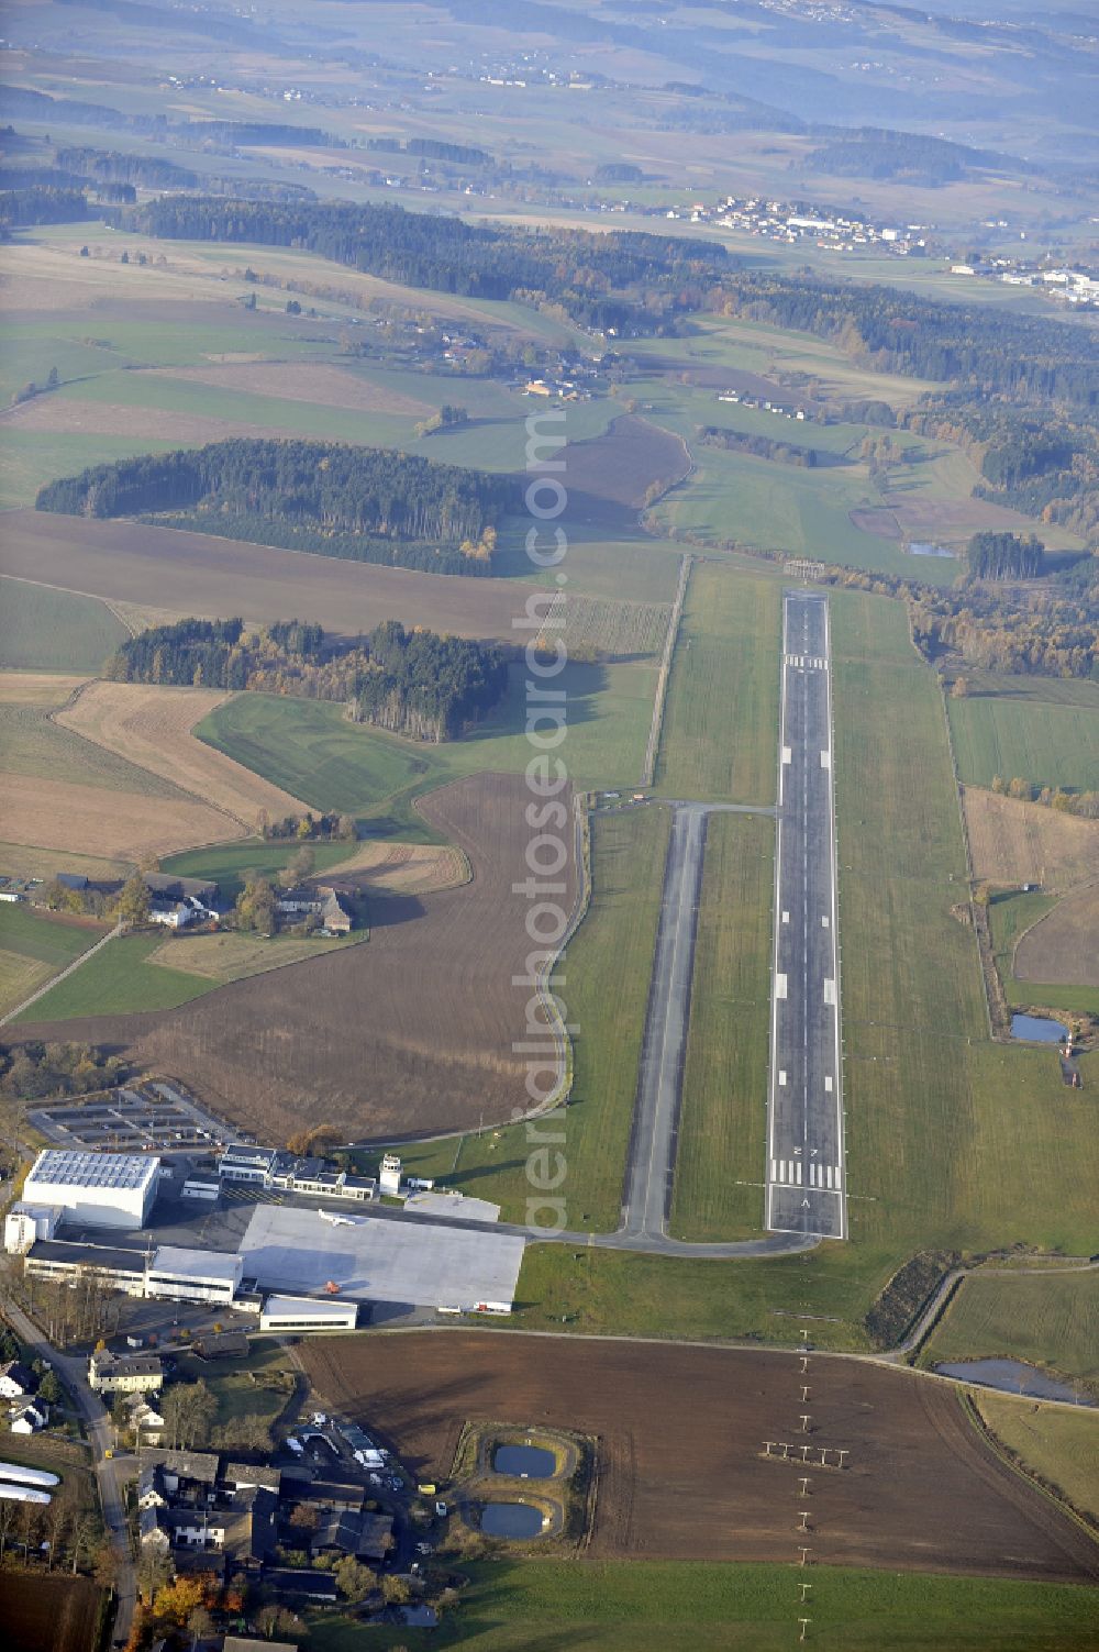
[[[844,1239],[828,600],[783,603],[767,1227]]]

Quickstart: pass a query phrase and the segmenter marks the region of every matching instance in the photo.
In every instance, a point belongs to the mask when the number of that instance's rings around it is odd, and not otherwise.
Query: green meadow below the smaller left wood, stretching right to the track
[[[626,786],[645,760],[656,666],[621,661],[570,664],[559,684],[569,699],[562,755],[582,788]],[[198,724],[197,733],[304,798],[369,823],[370,833],[423,839],[430,829],[410,801],[421,791],[481,770],[517,773],[530,760],[524,730],[526,689],[516,669],[492,720],[464,740],[423,745],[347,722],[342,707],[266,694],[240,694]]]

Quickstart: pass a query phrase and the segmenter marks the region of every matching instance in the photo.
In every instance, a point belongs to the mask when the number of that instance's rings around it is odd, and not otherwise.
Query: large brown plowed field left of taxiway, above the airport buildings
[[[370,940],[236,981],[180,1009],[20,1026],[129,1047],[142,1066],[195,1087],[264,1140],[331,1122],[357,1137],[416,1135],[502,1120],[526,1105],[522,975],[530,942],[532,833],[522,776],[441,786],[423,814],[468,857],[458,889],[370,905]],[[572,847],[572,846],[570,846]],[[562,879],[573,900],[572,864]]]

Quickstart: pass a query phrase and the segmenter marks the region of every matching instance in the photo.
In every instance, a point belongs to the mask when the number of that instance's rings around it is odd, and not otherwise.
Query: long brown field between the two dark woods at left
[[[311,620],[340,636],[402,620],[514,643],[529,585],[342,562],[139,522],[38,510],[3,517],[0,572],[200,620]]]

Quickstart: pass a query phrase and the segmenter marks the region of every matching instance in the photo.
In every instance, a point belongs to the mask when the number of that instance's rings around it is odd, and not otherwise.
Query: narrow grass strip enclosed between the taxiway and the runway
[[[773,821],[711,814],[671,1206],[679,1239],[739,1239],[764,1222],[773,876]]]

